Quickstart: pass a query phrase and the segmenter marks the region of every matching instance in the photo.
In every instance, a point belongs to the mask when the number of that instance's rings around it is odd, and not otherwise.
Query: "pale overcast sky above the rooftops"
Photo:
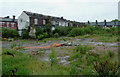
[[[79,22],[118,19],[119,0],[0,0],[0,17],[30,11]]]

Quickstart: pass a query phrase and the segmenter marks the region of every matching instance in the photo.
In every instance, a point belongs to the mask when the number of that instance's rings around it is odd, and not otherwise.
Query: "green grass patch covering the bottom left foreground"
[[[78,70],[73,66],[51,65],[34,58],[32,55],[21,53],[16,50],[3,49],[3,53],[9,51],[15,57],[3,54],[2,74],[11,75],[10,70],[17,68],[15,75],[76,75]]]

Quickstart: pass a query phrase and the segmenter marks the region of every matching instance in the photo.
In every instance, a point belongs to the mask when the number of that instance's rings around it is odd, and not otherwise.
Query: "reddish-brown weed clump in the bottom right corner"
[[[94,63],[94,68],[99,75],[116,75],[118,70],[118,64],[116,62],[111,63],[108,60],[100,62],[96,61]]]

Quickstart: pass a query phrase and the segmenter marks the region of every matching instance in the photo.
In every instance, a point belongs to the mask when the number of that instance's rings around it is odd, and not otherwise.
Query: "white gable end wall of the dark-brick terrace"
[[[30,25],[29,22],[29,16],[22,12],[22,14],[18,17],[18,29],[21,30],[28,27]]]

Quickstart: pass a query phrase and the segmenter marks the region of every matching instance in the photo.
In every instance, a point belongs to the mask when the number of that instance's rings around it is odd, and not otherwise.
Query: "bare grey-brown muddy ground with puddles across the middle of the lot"
[[[54,43],[70,43],[72,46],[60,46],[54,47],[56,51],[56,56],[58,59],[58,63],[65,64],[67,63],[67,59],[72,53],[75,52],[75,45],[88,45],[94,47],[94,49],[90,50],[93,53],[106,53],[109,50],[113,51],[117,54],[118,51],[118,42],[115,43],[104,43],[104,42],[95,42],[91,38],[77,39],[66,37],[66,40],[57,40],[57,39],[47,39],[46,41],[36,41],[36,40],[15,40],[15,41],[2,41],[2,48],[12,49],[13,44],[15,46],[23,46],[23,47],[41,47],[41,46],[50,46]],[[36,58],[42,61],[49,61],[49,54],[52,49],[25,49],[25,50],[17,50],[23,53],[28,53],[34,55]],[[68,62],[69,63],[69,62]]]

